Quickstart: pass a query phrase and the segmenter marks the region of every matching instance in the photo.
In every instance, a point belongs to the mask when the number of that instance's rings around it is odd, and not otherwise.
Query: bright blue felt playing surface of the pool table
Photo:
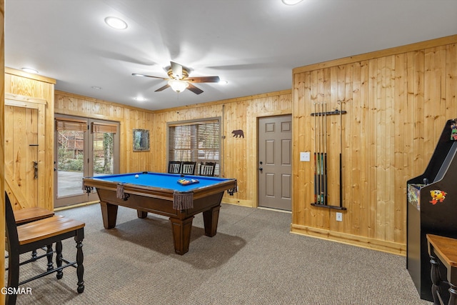
[[[135,176],[138,175],[138,178]],[[93,179],[100,179],[104,181],[112,181],[122,184],[137,184],[139,186],[150,186],[159,189],[173,189],[174,191],[194,191],[201,189],[206,186],[214,186],[224,181],[231,179],[224,179],[219,177],[208,177],[208,176],[181,176],[179,174],[165,174],[165,173],[153,173],[153,172],[138,172],[129,174],[114,174],[106,176],[95,176]],[[181,185],[178,183],[179,179],[196,179],[199,183]]]

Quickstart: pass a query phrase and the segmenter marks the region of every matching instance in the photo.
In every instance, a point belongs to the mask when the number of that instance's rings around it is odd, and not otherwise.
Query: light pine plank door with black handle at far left
[[[39,99],[5,99],[5,189],[14,209],[44,198],[45,106]]]

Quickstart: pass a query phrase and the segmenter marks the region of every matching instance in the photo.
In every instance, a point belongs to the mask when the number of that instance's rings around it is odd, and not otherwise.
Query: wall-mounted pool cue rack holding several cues
[[[341,105],[341,101],[338,101]],[[340,116],[340,126],[342,126],[341,115],[346,114],[345,110],[335,109],[326,111],[326,103],[314,103],[314,202],[311,206],[317,206],[326,209],[346,210],[343,207],[343,176],[342,176],[342,134],[340,129],[340,154],[339,154],[339,206],[328,204],[327,189],[327,116]]]

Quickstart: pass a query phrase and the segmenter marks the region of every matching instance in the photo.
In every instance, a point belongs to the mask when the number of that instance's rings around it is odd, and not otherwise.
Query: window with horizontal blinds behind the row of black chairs
[[[216,162],[214,176],[219,176],[220,126],[219,118],[169,123],[169,161],[195,161],[196,173],[199,173],[201,162]]]

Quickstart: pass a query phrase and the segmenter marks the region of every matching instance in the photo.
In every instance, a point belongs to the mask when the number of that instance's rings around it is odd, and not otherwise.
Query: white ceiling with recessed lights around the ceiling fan
[[[106,16],[129,27],[111,29]],[[57,90],[154,110],[290,89],[298,66],[457,34],[457,1],[6,0],[5,19],[5,66],[34,68]],[[177,94],[154,92],[164,80],[131,76],[166,77],[170,61],[229,84]]]

